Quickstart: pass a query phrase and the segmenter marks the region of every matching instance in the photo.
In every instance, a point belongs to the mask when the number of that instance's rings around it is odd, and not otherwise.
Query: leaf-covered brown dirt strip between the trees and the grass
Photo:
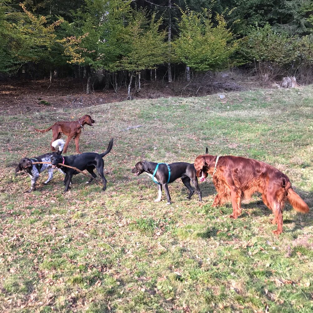
[[[246,90],[255,88],[259,84],[256,80],[233,80],[230,77],[224,80],[220,86],[203,84],[197,95],[208,95],[218,91]],[[86,95],[83,82],[75,82],[71,79],[55,80],[50,85],[49,80],[11,80],[0,82],[0,111],[7,114],[39,112],[43,110],[60,110],[62,108],[78,109],[91,105],[120,102],[127,98],[127,90],[122,86],[117,93],[113,89],[92,90]],[[223,88],[224,87],[224,88]],[[170,96],[192,96],[198,89],[197,81],[192,84],[186,82],[168,84],[152,84],[142,82],[141,91],[136,93],[132,89],[132,96],[136,99],[151,99]]]

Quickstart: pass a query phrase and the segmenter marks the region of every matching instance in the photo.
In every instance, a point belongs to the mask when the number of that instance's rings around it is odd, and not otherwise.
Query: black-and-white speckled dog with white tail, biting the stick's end
[[[65,141],[63,139],[58,139],[52,143],[52,146],[54,148],[59,147],[58,152],[49,152],[46,154],[43,154],[41,156],[37,156],[35,158],[23,158],[18,163],[17,168],[15,169],[15,173],[19,171],[25,171],[28,173],[30,180],[31,180],[31,186],[30,189],[27,192],[35,191],[36,190],[36,182],[39,177],[39,173],[47,170],[48,171],[48,179],[44,182],[45,185],[50,182],[50,180],[53,177],[53,171],[51,163],[50,164],[33,164],[34,162],[50,162],[51,156],[54,155],[60,155],[63,151]],[[65,174],[61,169],[57,168],[59,172],[62,174]]]

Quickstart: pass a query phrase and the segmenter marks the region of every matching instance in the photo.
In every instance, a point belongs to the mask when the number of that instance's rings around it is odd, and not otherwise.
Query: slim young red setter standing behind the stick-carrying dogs
[[[35,128],[35,131],[40,131],[41,133],[45,133],[46,131],[49,131],[52,129],[52,140],[51,143],[57,139],[60,139],[62,136],[62,133],[67,137],[67,140],[64,145],[63,153],[66,152],[67,147],[69,146],[69,142],[72,138],[75,140],[76,145],[76,152],[81,153],[79,150],[79,138],[81,130],[84,129],[84,125],[92,126],[92,123],[95,123],[95,121],[91,118],[90,115],[84,115],[81,117],[78,121],[71,121],[71,122],[56,122],[52,126],[50,126],[47,129],[37,129]],[[55,151],[54,147],[52,145],[51,150]]]

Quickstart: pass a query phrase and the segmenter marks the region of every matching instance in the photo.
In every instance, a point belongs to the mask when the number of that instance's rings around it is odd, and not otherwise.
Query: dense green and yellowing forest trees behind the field
[[[200,81],[231,67],[313,82],[313,4],[300,0],[0,0],[0,80],[85,90]],[[200,86],[199,85],[199,86]],[[200,87],[199,87],[200,88]]]

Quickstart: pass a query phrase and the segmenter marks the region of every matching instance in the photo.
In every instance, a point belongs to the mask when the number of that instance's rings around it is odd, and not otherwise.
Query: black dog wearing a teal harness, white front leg
[[[199,201],[202,201],[196,170],[191,163],[175,162],[167,164],[141,161],[135,165],[131,172],[134,173],[135,176],[139,176],[140,174],[146,172],[149,176],[151,176],[152,180],[158,184],[158,197],[154,200],[155,202],[161,201],[163,187],[167,198],[167,204],[171,203],[171,197],[167,184],[174,182],[177,178],[181,178],[183,184],[188,188],[188,199],[190,199],[194,193],[194,189],[190,184],[190,181],[192,181],[192,184],[198,192]]]

